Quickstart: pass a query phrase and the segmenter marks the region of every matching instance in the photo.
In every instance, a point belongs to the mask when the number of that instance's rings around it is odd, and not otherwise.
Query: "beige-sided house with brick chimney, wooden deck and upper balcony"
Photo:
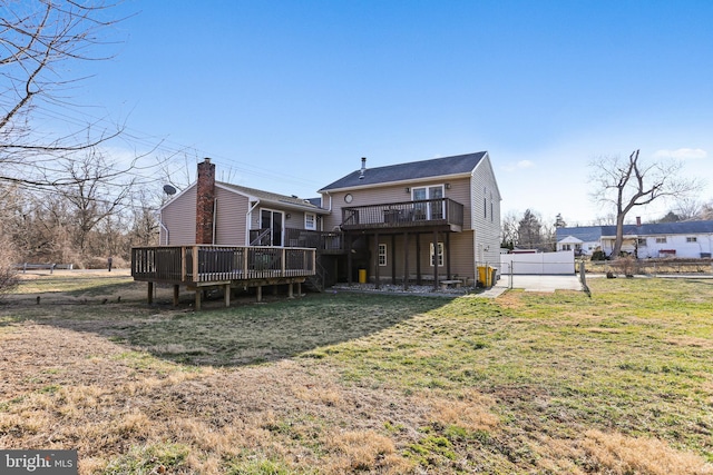
[[[196,291],[356,279],[475,284],[499,263],[500,192],[487,152],[385,167],[362,166],[302,199],[197,180],[159,209],[160,246],[134,248],[137,280]],[[321,205],[321,206],[320,206]],[[292,291],[292,290],[290,290]]]

